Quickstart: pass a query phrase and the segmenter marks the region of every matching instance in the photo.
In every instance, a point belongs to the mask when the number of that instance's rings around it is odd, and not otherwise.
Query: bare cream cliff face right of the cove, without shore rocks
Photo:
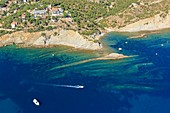
[[[170,11],[168,14],[161,13],[154,17],[146,18],[125,27],[117,29],[118,32],[138,32],[170,28]]]

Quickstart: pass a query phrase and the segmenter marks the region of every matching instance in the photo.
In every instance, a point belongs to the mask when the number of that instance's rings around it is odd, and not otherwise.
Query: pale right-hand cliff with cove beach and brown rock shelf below
[[[165,16],[157,14],[153,17],[139,20],[121,28],[105,28],[106,33],[117,32],[128,35],[130,38],[145,38],[149,34],[169,31],[170,29],[170,11]],[[133,33],[133,34],[132,34]]]

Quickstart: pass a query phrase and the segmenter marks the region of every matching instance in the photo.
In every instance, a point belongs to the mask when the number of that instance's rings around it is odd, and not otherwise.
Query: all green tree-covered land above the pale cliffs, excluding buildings
[[[11,23],[16,21],[18,23],[14,30],[25,29],[29,32],[52,30],[54,28],[72,29],[78,31],[83,35],[93,35],[96,32],[104,30],[105,27],[122,27],[129,23],[135,22],[139,19],[147,18],[158,14],[161,11],[162,17],[168,13],[168,0],[163,0],[159,4],[149,5],[149,2],[141,0],[145,5],[140,5],[138,0],[97,0],[99,2],[92,2],[95,0],[38,0],[37,2],[23,3],[18,0],[18,3],[11,3],[8,8],[9,11],[3,11],[0,15],[0,23],[3,23],[3,28],[11,29]],[[139,6],[135,9],[132,6],[134,3]],[[0,1],[0,7],[5,6],[7,0]],[[149,7],[148,7],[149,5]],[[130,7],[131,6],[131,7]],[[61,8],[64,10],[60,16],[51,16],[50,8]],[[31,13],[33,10],[45,10],[47,14],[45,17],[34,17]],[[161,9],[161,11],[160,11]],[[23,22],[21,16],[26,15]],[[118,16],[119,21],[117,18]],[[51,24],[59,21],[62,18],[72,18],[73,22],[62,21],[59,24]],[[121,21],[121,19],[123,21]],[[121,22],[120,22],[121,21]],[[120,24],[121,23],[121,24]],[[52,27],[53,26],[53,27]]]

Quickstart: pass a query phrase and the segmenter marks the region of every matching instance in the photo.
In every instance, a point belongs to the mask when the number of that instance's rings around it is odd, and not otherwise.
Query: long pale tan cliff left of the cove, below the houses
[[[79,49],[97,50],[102,45],[94,40],[83,37],[72,30],[53,30],[44,32],[25,33],[15,32],[0,38],[0,46],[22,44],[23,46],[45,47],[65,45]]]

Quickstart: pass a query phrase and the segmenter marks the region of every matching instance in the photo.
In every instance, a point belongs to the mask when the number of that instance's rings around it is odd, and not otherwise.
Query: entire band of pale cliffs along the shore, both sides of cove
[[[106,34],[108,32],[128,32],[137,35],[132,35],[130,38],[141,38],[148,34],[158,33],[159,30],[170,28],[170,11],[164,17],[157,14],[154,17],[139,20],[135,23],[129,24],[125,27],[105,28]],[[43,35],[42,35],[43,34]],[[99,40],[101,36],[97,36]],[[52,31],[40,31],[28,33],[24,31],[6,34],[0,38],[0,47],[7,45],[21,45],[23,47],[48,47],[55,45],[70,46],[78,49],[99,50],[102,44],[88,36],[82,36],[73,30],[54,29]]]

